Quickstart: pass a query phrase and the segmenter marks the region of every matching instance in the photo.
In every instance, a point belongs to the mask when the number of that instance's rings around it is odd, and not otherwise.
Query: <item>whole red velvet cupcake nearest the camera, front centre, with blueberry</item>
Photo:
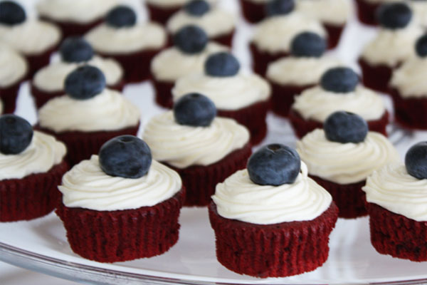
[[[216,258],[227,269],[256,277],[315,270],[327,260],[338,209],[307,177],[295,150],[267,145],[216,186],[209,219]]]

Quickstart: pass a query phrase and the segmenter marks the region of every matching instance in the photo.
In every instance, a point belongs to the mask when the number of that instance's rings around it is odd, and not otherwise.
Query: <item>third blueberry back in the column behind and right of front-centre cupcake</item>
[[[326,41],[317,33],[306,31],[293,38],[290,51],[294,56],[318,58],[326,51]]]

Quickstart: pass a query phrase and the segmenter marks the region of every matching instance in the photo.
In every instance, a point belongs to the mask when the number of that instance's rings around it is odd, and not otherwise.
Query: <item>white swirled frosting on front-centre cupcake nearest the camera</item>
[[[212,199],[221,217],[251,224],[310,221],[332,202],[331,195],[307,177],[304,162],[295,182],[280,186],[256,185],[248,170],[239,170],[216,185]]]

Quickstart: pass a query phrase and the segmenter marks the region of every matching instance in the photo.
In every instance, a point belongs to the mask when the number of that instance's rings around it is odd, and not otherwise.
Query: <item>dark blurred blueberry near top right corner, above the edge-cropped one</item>
[[[379,24],[384,28],[404,28],[412,19],[412,11],[403,2],[386,3],[377,10],[377,18]]]

